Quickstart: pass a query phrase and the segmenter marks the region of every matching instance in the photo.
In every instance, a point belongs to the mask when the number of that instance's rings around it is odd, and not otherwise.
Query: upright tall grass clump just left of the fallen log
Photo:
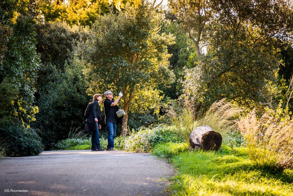
[[[167,115],[170,118],[171,124],[175,126],[178,136],[184,142],[189,143],[189,135],[196,126],[191,101],[185,100],[184,106],[180,109],[168,109]]]

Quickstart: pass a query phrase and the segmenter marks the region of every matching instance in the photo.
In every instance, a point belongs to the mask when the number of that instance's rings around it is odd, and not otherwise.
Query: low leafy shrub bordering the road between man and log
[[[140,128],[137,133],[115,140],[115,147],[130,152],[149,153],[159,143],[182,142],[173,127],[159,125],[155,128]]]

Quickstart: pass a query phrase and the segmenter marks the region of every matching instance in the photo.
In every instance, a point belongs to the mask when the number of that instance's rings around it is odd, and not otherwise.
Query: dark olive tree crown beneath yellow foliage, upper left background
[[[48,83],[58,79],[56,69],[64,72],[64,64],[73,58],[78,41],[85,40],[88,33],[80,26],[70,27],[65,22],[39,23],[36,29],[37,52],[42,61],[37,83],[36,100],[38,101],[40,93],[47,93]]]

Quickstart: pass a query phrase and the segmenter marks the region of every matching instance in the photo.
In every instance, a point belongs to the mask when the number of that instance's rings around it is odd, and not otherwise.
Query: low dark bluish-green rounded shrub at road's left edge
[[[1,125],[0,140],[6,143],[4,150],[8,156],[38,155],[44,147],[36,131],[32,128],[25,128],[18,121]]]

